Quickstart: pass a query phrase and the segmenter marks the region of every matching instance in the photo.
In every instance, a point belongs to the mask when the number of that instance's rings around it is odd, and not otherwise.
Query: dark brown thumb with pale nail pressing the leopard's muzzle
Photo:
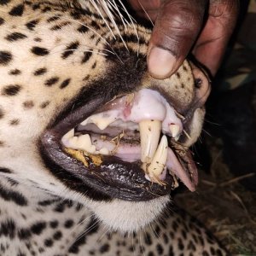
[[[170,77],[182,64],[201,32],[204,0],[161,1],[148,47],[148,71],[157,79]]]

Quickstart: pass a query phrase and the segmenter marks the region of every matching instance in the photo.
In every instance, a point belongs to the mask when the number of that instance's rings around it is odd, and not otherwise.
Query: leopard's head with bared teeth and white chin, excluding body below
[[[0,9],[1,175],[130,231],[163,211],[176,177],[195,190],[188,148],[209,94],[200,69],[184,61],[171,78],[152,78],[150,30],[112,22],[102,6],[9,0]]]

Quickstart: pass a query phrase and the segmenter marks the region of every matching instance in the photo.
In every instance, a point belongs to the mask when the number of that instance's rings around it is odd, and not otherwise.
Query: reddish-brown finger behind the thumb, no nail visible
[[[212,0],[208,13],[206,26],[195,44],[193,53],[214,75],[236,26],[239,0]]]

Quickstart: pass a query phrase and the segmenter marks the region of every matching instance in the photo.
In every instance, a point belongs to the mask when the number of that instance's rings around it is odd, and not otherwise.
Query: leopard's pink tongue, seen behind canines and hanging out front
[[[115,148],[114,143],[109,142],[108,140],[102,141],[102,139],[95,134],[91,135],[91,141],[96,145],[96,150],[108,148],[109,151],[114,151],[115,153],[113,155],[119,157],[121,160],[127,162],[141,160],[141,147],[138,144],[120,143],[119,146]],[[195,170],[193,170],[193,174],[191,174],[192,177],[190,178],[188,171],[183,169],[183,166],[181,166],[171,148],[168,148],[166,167],[175,174],[190,191],[195,191],[195,186],[197,184],[197,172],[195,166],[193,166]]]

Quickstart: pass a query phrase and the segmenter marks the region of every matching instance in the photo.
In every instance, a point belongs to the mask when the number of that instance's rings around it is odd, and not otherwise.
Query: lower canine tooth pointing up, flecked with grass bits
[[[160,144],[156,149],[153,160],[148,166],[149,177],[159,177],[166,166],[168,142],[167,137],[164,135],[161,138]]]

